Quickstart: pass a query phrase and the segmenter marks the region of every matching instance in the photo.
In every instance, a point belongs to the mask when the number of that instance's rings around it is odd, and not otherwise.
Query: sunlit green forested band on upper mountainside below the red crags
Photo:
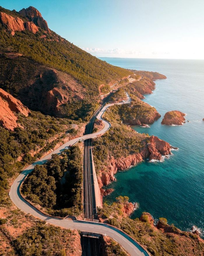
[[[1,8],[0,11],[7,12]],[[11,16],[19,16],[9,11]],[[98,96],[99,85],[119,80],[132,71],[112,66],[88,54],[54,32],[51,35],[42,29],[33,34],[27,30],[15,32],[12,36],[0,26],[1,51],[19,52],[33,60],[66,72],[86,88],[89,97]],[[45,35],[46,38],[41,36]]]

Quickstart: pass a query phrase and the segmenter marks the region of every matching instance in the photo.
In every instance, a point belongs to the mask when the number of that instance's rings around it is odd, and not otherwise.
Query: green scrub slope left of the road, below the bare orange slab
[[[25,117],[18,114],[18,122],[24,127],[8,131],[0,127],[0,203],[6,204],[8,178],[21,171],[25,164],[32,163],[44,152],[52,149],[58,142],[75,135],[70,121],[66,118],[44,116],[33,112]],[[69,134],[68,134],[69,133]],[[31,156],[33,152],[34,157]],[[32,154],[32,155],[33,155]]]

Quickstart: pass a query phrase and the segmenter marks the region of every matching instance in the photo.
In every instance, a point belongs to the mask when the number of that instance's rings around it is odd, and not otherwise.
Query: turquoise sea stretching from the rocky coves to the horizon
[[[126,195],[139,202],[132,218],[143,211],[154,219],[166,217],[168,223],[186,231],[192,225],[204,230],[204,60],[120,59],[101,58],[110,64],[136,70],[157,71],[167,76],[157,80],[156,89],[145,95],[161,118],[150,128],[133,128],[149,133],[179,147],[163,162],[143,162],[115,175],[115,191],[105,200]],[[190,122],[183,126],[162,126],[164,114],[180,110]]]

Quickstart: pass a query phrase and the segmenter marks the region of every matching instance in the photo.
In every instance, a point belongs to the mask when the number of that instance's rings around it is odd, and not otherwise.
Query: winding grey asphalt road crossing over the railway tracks
[[[129,94],[126,92],[127,100],[125,102],[119,102],[117,104],[127,104],[131,102],[131,98]],[[149,255],[147,251],[139,244],[137,243],[133,238],[128,236],[123,231],[110,226],[108,224],[103,223],[94,223],[90,221],[73,221],[70,218],[58,218],[58,217],[52,217],[47,214],[42,213],[39,211],[36,207],[31,205],[29,202],[27,202],[20,194],[20,185],[22,184],[24,178],[33,171],[34,166],[37,164],[45,164],[49,159],[51,159],[52,154],[61,154],[63,150],[65,150],[65,147],[68,147],[70,145],[75,144],[76,142],[84,141],[89,138],[96,138],[97,136],[105,133],[108,129],[110,129],[111,124],[103,119],[103,114],[106,111],[106,109],[114,104],[107,104],[103,106],[101,111],[97,113],[97,119],[100,119],[104,123],[104,128],[100,130],[99,132],[92,133],[92,134],[86,134],[84,136],[75,138],[73,140],[70,140],[66,142],[64,145],[60,146],[58,149],[52,151],[47,156],[43,157],[39,161],[36,161],[35,163],[28,166],[20,175],[15,179],[13,185],[10,188],[9,196],[12,202],[16,205],[16,207],[23,212],[27,214],[32,214],[33,216],[46,221],[49,224],[53,224],[62,228],[69,228],[69,229],[78,229],[80,231],[90,232],[90,233],[98,233],[102,235],[107,235],[117,241],[130,255]]]

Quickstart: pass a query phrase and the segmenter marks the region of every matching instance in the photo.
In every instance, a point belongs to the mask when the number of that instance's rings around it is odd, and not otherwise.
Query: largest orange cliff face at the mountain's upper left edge
[[[6,13],[0,12],[0,21],[3,26],[11,30],[12,35],[14,35],[14,31],[25,30],[23,20],[18,17],[14,18]]]

